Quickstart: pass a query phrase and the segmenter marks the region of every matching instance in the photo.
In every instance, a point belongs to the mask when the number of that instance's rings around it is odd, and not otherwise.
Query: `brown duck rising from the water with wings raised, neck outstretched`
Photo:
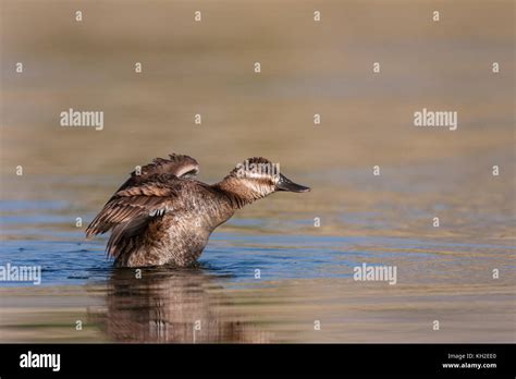
[[[220,182],[196,180],[197,160],[171,154],[137,167],[86,229],[111,232],[107,256],[115,267],[197,265],[211,233],[242,209],[277,192],[304,193],[279,163],[248,158]]]

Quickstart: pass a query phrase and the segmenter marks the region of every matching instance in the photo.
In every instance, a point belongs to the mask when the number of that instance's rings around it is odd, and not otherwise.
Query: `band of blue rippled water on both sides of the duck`
[[[106,257],[103,250],[107,237],[81,241],[82,233],[61,233],[61,236],[66,235],[70,241],[3,241],[0,264],[41,266],[41,285],[84,284],[107,280],[113,271],[112,260]],[[442,250],[454,249],[458,253],[497,248],[501,246],[472,246],[465,243],[395,237],[254,235],[219,232],[212,235],[199,264],[205,273],[220,276],[229,282],[236,283],[255,281],[256,270],[259,270],[262,281],[346,278],[351,277],[353,268],[363,261],[379,265],[395,258],[413,264],[417,261],[425,264],[440,258],[439,252]],[[415,254],[414,250],[418,253]],[[0,285],[32,284],[0,282]]]

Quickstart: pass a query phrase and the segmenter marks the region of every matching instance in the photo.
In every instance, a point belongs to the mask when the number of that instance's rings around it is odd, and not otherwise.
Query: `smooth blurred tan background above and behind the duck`
[[[343,213],[382,209],[391,228],[373,233],[423,235],[441,204],[454,228],[438,234],[514,234],[513,1],[2,0],[1,14],[4,197],[84,176],[74,201],[93,212],[157,156],[192,155],[208,182],[263,156],[315,191],[257,216],[286,204],[323,213],[318,232],[355,234]],[[61,127],[69,108],[103,111],[103,131]],[[458,130],[415,127],[422,108],[457,111]],[[16,182],[19,164],[38,184]]]

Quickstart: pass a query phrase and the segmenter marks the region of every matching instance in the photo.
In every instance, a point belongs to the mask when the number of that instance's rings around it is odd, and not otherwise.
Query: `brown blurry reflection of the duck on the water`
[[[231,307],[224,289],[200,268],[146,268],[140,277],[116,269],[100,322],[118,342],[267,342],[266,333],[238,321]]]

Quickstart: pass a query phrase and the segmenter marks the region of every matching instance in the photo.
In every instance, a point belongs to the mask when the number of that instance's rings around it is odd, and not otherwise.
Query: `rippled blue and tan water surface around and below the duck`
[[[324,231],[311,220],[317,213],[312,207],[319,207],[323,197],[316,186],[305,208],[284,205],[298,204],[294,194],[275,194],[237,212],[213,233],[199,267],[144,269],[136,278],[133,269],[112,268],[105,254],[107,236],[87,241],[84,227],[75,228],[76,217],[90,220],[95,211],[83,213],[83,206],[72,211],[74,203],[65,198],[77,194],[88,198],[89,185],[77,192],[76,180],[52,180],[54,184],[48,178],[46,184],[59,187],[62,199],[1,203],[2,262],[42,267],[40,285],[1,283],[3,341],[514,339],[516,270],[511,240],[471,236],[468,243],[460,234],[417,236],[426,233],[416,228],[418,217],[426,218],[423,211],[413,212],[414,235],[370,235],[393,223],[370,222],[390,218],[391,210],[382,207],[343,212]],[[109,194],[116,186],[110,182],[99,178],[96,185]],[[278,207],[283,217],[259,216]],[[347,224],[360,232],[346,232]],[[335,228],[343,235],[334,233]],[[353,269],[363,262],[396,266],[396,284],[355,281]],[[497,280],[492,279],[493,268],[501,272]],[[431,330],[434,319],[446,333]],[[84,325],[81,331],[74,329],[77,320]],[[321,322],[320,330],[315,330],[316,321]]]

